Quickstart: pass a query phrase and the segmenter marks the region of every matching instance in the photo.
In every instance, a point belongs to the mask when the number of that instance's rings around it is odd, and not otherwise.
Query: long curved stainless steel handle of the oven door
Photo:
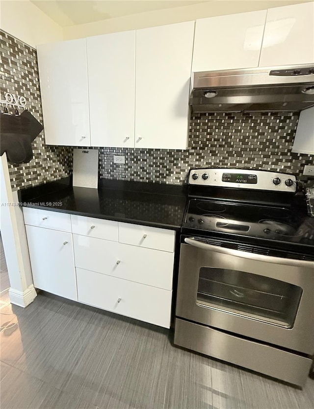
[[[195,237],[185,237],[184,241],[186,244],[189,244],[194,247],[198,247],[202,250],[211,250],[217,253],[228,254],[230,256],[242,257],[244,259],[250,259],[250,260],[256,260],[258,262],[277,263],[277,264],[280,263],[284,265],[292,265],[295,267],[314,268],[314,262],[311,262],[311,261],[285,259],[283,257],[265,256],[263,254],[249,253],[247,251],[242,251],[242,250],[228,249],[226,247],[219,247],[213,244],[205,243],[204,241],[201,241],[200,239],[196,239]]]

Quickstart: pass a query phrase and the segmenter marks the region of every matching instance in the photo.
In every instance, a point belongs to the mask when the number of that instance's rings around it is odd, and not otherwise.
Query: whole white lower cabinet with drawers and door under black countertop
[[[24,217],[36,288],[170,327],[174,231],[34,208]]]

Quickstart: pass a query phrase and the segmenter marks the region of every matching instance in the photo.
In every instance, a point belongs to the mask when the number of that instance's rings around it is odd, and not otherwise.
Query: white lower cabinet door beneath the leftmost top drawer
[[[72,234],[26,225],[34,286],[77,300]]]

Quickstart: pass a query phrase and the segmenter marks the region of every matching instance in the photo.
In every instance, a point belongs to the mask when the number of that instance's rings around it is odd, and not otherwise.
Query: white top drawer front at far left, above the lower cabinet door
[[[25,224],[71,233],[70,214],[23,207]]]

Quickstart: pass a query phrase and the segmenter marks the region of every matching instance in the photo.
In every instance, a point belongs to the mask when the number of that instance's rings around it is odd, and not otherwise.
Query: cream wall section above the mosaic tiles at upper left
[[[32,47],[63,37],[62,28],[29,0],[1,0],[0,29]]]

